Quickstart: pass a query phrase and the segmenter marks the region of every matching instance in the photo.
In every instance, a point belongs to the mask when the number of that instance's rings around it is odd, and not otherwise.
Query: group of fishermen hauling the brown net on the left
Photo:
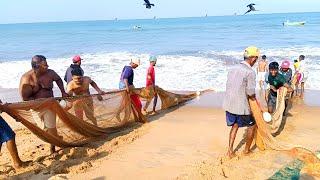
[[[62,97],[70,96],[84,96],[90,95],[90,86],[92,86],[99,95],[103,95],[99,86],[87,76],[84,76],[84,70],[81,67],[82,58],[75,56],[73,58],[73,64],[66,70],[64,80],[67,87],[64,88],[64,84],[60,76],[54,71],[49,69],[47,59],[43,55],[35,55],[31,60],[31,70],[23,74],[20,80],[19,93],[23,101],[32,101],[43,98],[53,98],[54,82],[57,84]],[[157,94],[155,86],[155,65],[157,58],[151,56],[150,67],[147,70],[146,87],[151,89],[154,95],[154,103],[152,113],[156,112]],[[146,105],[142,109],[142,103],[139,97],[132,92],[134,89],[134,69],[140,65],[140,59],[134,58],[130,61],[130,65],[125,66],[120,76],[119,88],[127,91],[130,94],[132,102],[137,110],[148,113],[147,109],[152,99],[149,99]],[[103,100],[101,96],[98,96],[99,100]],[[2,103],[0,101],[0,103]],[[86,106],[86,107],[84,107]],[[94,105],[92,98],[86,98],[83,100],[68,101],[65,110],[69,110],[73,107],[75,115],[83,119],[83,115],[95,125],[97,120],[94,116]],[[56,113],[50,109],[30,110],[30,113],[37,123],[47,133],[59,137],[56,127]],[[7,122],[0,116],[0,150],[3,143],[7,144],[7,148],[12,157],[15,168],[20,168],[26,163],[21,161],[18,155],[17,146],[15,143],[15,133],[7,124]],[[50,145],[50,152],[55,152],[55,146]]]

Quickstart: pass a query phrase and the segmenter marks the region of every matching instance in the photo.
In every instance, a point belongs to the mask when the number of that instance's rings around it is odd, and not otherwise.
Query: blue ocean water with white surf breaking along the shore
[[[282,22],[306,21],[302,27]],[[134,29],[141,26],[141,29]],[[122,67],[140,57],[135,84],[144,86],[148,56],[157,55],[157,84],[169,90],[223,91],[228,69],[249,45],[269,61],[306,55],[307,88],[320,89],[320,13],[0,25],[0,87],[18,88],[31,57],[43,54],[63,77],[80,54],[85,75],[106,89],[118,87]]]

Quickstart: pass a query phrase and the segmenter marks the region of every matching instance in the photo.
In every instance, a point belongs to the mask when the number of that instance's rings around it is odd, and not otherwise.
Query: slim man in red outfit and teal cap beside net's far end
[[[152,107],[152,113],[155,114],[156,113],[156,106],[157,106],[157,101],[158,101],[158,95],[156,92],[156,79],[155,79],[155,70],[154,67],[157,64],[157,57],[156,56],[150,56],[149,58],[149,62],[150,62],[150,66],[148,68],[147,71],[147,81],[146,81],[146,88],[147,90],[150,92],[150,99],[147,99],[147,102],[143,108],[143,111],[146,113],[147,109],[153,100],[153,107]]]

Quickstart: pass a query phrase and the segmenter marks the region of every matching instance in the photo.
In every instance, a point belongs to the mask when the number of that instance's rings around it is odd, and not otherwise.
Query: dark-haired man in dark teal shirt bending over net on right
[[[288,89],[288,93],[290,93],[293,89],[287,82],[285,76],[279,73],[279,64],[277,62],[271,62],[269,64],[269,72],[268,83],[270,84],[270,91],[267,104],[269,113],[273,113],[277,104],[277,90],[281,87],[286,87]]]

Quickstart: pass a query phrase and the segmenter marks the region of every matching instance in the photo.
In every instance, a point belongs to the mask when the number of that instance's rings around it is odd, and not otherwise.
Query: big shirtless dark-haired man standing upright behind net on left
[[[47,60],[42,55],[36,55],[31,60],[32,69],[26,72],[20,80],[19,92],[24,101],[53,97],[53,82],[58,85],[62,97],[68,96],[59,75],[48,69]],[[58,136],[56,128],[56,114],[48,109],[40,111],[31,110],[32,116],[38,125],[41,125],[49,134]],[[50,152],[55,152],[51,145]]]

